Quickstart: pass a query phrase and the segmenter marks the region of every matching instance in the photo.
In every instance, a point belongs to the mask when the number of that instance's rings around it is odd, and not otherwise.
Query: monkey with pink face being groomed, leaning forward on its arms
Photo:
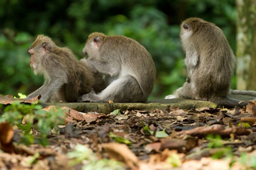
[[[84,61],[78,61],[72,50],[58,47],[45,35],[38,35],[29,47],[30,66],[35,74],[44,75],[44,85],[29,94],[27,99],[41,95],[41,102],[77,102],[84,93],[105,88],[98,86],[95,77],[98,75],[90,70]],[[102,80],[103,82],[103,80]]]

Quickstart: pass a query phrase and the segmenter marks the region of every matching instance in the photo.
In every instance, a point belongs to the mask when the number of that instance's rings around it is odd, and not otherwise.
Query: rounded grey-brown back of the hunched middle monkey
[[[108,36],[107,41],[115,47],[109,55],[120,56],[120,63],[123,63],[121,66],[133,73],[132,76],[139,82],[145,97],[148,98],[153,90],[156,75],[151,54],[139,42],[122,35]]]

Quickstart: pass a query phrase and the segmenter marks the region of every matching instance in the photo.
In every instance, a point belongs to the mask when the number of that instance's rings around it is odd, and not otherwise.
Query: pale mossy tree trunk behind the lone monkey
[[[238,90],[256,90],[256,0],[236,0]]]

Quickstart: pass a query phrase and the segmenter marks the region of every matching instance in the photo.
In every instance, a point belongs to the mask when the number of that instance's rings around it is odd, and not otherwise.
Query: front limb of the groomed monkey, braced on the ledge
[[[63,83],[60,80],[52,78],[38,90],[35,90],[35,92],[29,94],[26,99],[32,99],[35,96],[41,95],[41,102],[49,102],[50,97],[62,86],[62,84]]]

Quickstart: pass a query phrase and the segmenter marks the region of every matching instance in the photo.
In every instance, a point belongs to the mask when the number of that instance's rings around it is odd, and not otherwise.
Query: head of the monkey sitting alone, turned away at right
[[[188,18],[181,23],[181,40],[189,38],[191,35],[196,34],[203,26],[209,23],[200,18]]]

